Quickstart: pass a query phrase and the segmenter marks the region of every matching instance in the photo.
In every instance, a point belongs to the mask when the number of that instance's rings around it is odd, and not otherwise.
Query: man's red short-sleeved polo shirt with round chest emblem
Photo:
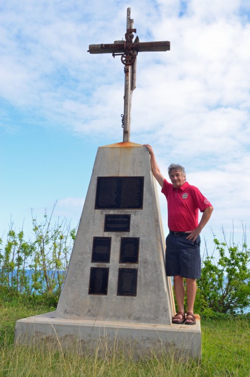
[[[178,189],[164,180],[161,192],[167,199],[168,228],[173,232],[193,231],[198,226],[198,210],[212,205],[195,186],[185,182]]]

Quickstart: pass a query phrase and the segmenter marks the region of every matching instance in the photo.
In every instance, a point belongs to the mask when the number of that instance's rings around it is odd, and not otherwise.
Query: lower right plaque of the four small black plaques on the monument
[[[117,296],[136,296],[137,268],[119,268]]]

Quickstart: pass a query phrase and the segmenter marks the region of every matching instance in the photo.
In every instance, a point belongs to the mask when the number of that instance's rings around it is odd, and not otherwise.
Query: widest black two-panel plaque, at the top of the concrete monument
[[[144,177],[97,177],[95,209],[142,209]]]

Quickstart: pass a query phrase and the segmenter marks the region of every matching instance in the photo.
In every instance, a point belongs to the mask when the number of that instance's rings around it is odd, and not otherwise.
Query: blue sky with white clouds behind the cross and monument
[[[250,230],[248,0],[3,0],[0,4],[0,237],[32,215],[78,224],[98,146],[122,141],[119,57],[89,44],[124,39],[127,8],[141,42],[131,141],[151,144],[162,173],[185,166],[214,211],[202,232],[242,243]],[[165,196],[160,193],[164,231]],[[232,236],[234,238],[232,238]],[[249,239],[249,237],[248,237]],[[205,243],[204,243],[205,244]]]

